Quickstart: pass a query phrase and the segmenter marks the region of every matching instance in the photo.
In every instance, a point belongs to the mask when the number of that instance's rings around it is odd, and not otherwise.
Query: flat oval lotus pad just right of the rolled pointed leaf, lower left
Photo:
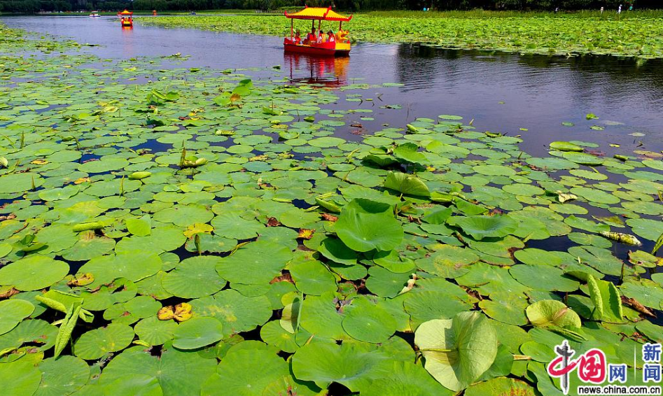
[[[106,353],[123,350],[133,339],[134,330],[131,327],[111,323],[84,333],[74,343],[74,353],[81,359],[97,360]]]

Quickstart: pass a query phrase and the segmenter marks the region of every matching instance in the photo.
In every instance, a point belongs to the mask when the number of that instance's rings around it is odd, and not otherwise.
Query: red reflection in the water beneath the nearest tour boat
[[[348,84],[349,57],[316,57],[286,52],[284,64],[290,72],[291,83],[341,87]]]

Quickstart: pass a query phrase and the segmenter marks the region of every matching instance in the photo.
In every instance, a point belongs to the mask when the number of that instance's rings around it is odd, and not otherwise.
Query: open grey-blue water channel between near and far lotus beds
[[[364,98],[375,99],[372,102],[342,101],[344,108],[373,108],[375,121],[361,122],[366,133],[381,129],[383,124],[403,127],[417,117],[454,114],[462,115],[466,122],[474,119],[480,130],[522,135],[524,148],[533,155],[545,153],[547,144],[554,140],[604,143],[601,150],[609,155],[626,153],[638,146],[663,149],[660,61],[638,64],[633,59],[617,57],[517,55],[375,43],[359,43],[349,58],[321,59],[285,55],[280,37],[146,27],[140,24],[141,17],[136,18],[138,22],[131,30],[121,29],[116,17],[0,20],[10,27],[102,45],[83,49],[102,58],[181,52],[190,55],[183,64],[187,67],[281,65],[280,73],[286,78],[316,80],[332,87],[351,83],[405,84],[362,91]],[[403,109],[379,108],[385,104],[399,104]],[[599,120],[585,120],[587,113],[595,113]],[[564,121],[575,123],[575,127],[562,126]],[[589,129],[592,125],[605,129]],[[645,136],[629,135],[633,132]],[[619,143],[622,147],[609,148],[607,143]]]

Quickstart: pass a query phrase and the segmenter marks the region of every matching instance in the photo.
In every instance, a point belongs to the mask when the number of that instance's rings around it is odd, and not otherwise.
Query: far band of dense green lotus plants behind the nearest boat
[[[289,34],[281,15],[169,16],[139,20],[160,27],[194,28],[234,33]],[[295,27],[307,31],[306,22]],[[359,13],[346,25],[356,41],[425,43],[442,48],[500,50],[556,55],[663,57],[663,13],[517,13],[512,11],[376,11]]]

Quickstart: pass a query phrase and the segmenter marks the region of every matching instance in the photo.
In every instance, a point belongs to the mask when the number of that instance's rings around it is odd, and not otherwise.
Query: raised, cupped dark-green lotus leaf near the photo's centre
[[[389,204],[353,199],[345,205],[335,225],[338,237],[358,252],[391,250],[403,240],[403,227]]]

